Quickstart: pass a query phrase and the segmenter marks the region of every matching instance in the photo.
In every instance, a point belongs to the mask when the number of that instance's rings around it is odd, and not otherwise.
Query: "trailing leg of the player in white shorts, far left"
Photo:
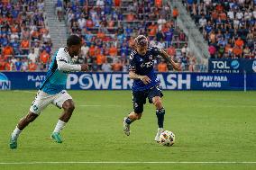
[[[16,126],[15,130],[13,131],[10,139],[10,148],[17,148],[18,147],[18,137],[21,134],[22,130],[28,126],[32,121],[34,121],[38,117],[38,114],[29,112],[21,121],[19,121],[18,125]]]

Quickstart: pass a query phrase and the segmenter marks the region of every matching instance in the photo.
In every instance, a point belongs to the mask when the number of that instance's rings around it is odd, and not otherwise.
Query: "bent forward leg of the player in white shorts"
[[[62,104],[62,108],[64,112],[59,117],[59,121],[57,122],[55,129],[53,130],[50,138],[55,140],[57,143],[62,143],[62,139],[60,137],[60,131],[64,129],[66,123],[69,121],[72,113],[75,109],[75,104],[71,99],[68,99]]]

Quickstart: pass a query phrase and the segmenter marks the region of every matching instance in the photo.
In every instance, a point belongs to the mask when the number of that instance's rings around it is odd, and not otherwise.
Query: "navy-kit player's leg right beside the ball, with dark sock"
[[[161,100],[160,100],[160,96],[155,96],[152,99],[152,102],[154,103],[154,105],[156,106],[156,115],[158,118],[158,131],[155,137],[155,141],[159,141],[160,140],[160,134],[161,132],[163,132],[163,121],[164,121],[164,114],[165,114],[165,110],[162,106]]]

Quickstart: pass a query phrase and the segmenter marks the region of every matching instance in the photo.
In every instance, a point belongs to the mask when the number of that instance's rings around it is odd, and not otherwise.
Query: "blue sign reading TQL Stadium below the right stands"
[[[208,69],[210,73],[256,73],[256,59],[209,59]]]

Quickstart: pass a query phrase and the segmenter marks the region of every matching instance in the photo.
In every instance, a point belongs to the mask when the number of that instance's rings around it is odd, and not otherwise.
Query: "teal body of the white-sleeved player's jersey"
[[[53,56],[46,78],[40,87],[47,94],[59,94],[66,87],[68,74],[59,71],[56,60],[57,53],[58,51]]]

